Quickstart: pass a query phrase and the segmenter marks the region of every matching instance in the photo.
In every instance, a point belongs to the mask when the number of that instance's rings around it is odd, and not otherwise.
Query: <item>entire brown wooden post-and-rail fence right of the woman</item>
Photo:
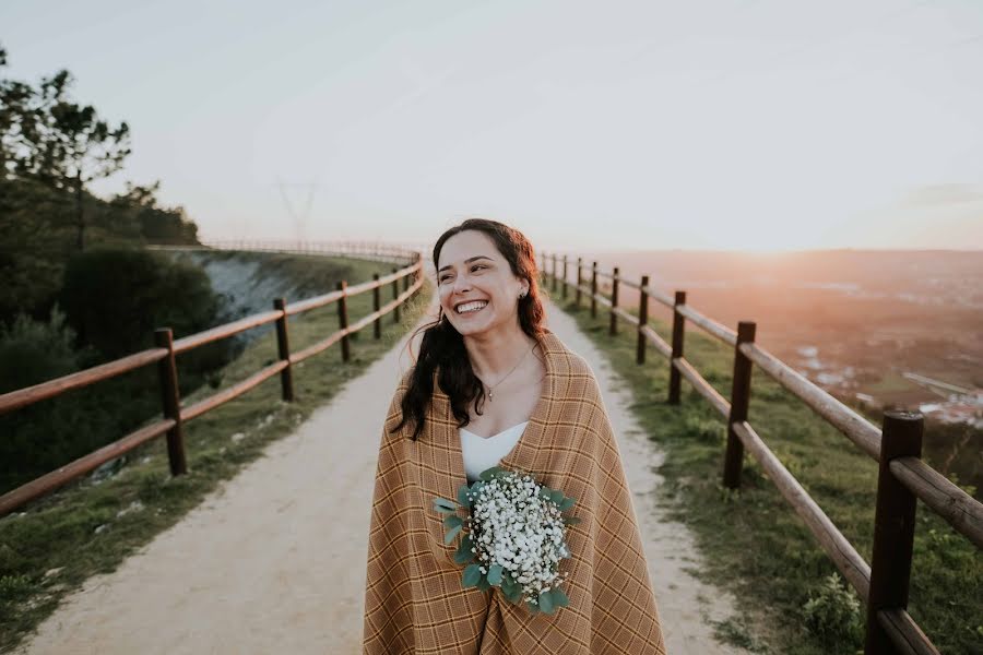
[[[552,266],[547,267],[547,262],[552,262]],[[639,365],[644,364],[646,348],[650,344],[670,360],[667,398],[670,404],[679,403],[679,386],[682,379],[685,378],[726,418],[724,486],[731,489],[741,486],[744,450],[747,449],[774,481],[789,504],[805,521],[836,567],[864,599],[867,608],[864,650],[866,655],[938,653],[907,611],[915,500],[921,499],[933,512],[945,519],[957,532],[981,549],[983,549],[983,504],[921,460],[924,429],[921,414],[886,412],[881,428],[877,429],[863,416],[757,345],[754,322],[739,322],[735,332],[689,307],[686,303],[686,291],[680,290],[668,296],[652,288],[648,275],[643,275],[641,281],[636,283],[623,278],[617,267],[607,273],[597,270],[596,261],[587,265],[583,258],[578,258],[575,264],[572,258],[557,254],[548,257],[544,254],[541,266],[547,283],[552,282],[554,293],[561,286],[564,299],[568,297],[571,287],[578,307],[581,296],[587,295],[592,317],[597,315],[599,303],[606,306],[611,335],[617,333],[618,319],[633,325],[638,333],[636,361]],[[570,266],[576,267],[576,282],[570,281]],[[589,286],[584,272],[589,274]],[[611,297],[597,291],[599,277],[611,281]],[[621,285],[639,291],[637,317],[618,305],[618,290]],[[672,343],[666,343],[649,326],[650,299],[672,310]],[[734,347],[734,378],[730,400],[718,393],[686,360],[684,346],[687,321],[718,341]],[[795,394],[878,462],[874,549],[869,564],[748,422],[753,365],[757,365],[784,389]]]

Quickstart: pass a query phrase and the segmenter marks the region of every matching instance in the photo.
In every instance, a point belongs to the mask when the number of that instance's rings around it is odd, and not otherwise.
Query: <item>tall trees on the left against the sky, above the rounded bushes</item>
[[[0,47],[0,72],[7,51]],[[39,85],[0,75],[0,324],[47,317],[64,267],[90,246],[196,245],[182,207],[164,207],[159,182],[102,200],[85,186],[129,154],[129,127],[111,127],[69,98],[68,71]]]

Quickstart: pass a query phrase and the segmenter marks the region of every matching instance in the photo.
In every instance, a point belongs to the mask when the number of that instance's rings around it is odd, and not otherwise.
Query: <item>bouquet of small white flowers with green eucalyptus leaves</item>
[[[559,572],[559,562],[570,557],[565,528],[579,523],[562,515],[573,503],[529,474],[493,466],[471,487],[462,485],[457,502],[435,498],[434,509],[447,514],[446,545],[465,532],[454,552],[457,563],[469,564],[465,587],[499,587],[510,603],[524,602],[529,611],[548,615],[569,604],[559,588],[568,575]],[[467,511],[463,519],[458,515],[462,508]]]

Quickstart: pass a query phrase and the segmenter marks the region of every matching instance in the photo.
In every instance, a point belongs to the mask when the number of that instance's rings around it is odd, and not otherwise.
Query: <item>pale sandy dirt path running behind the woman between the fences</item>
[[[604,392],[670,653],[737,652],[711,638],[707,618],[729,617],[730,605],[685,571],[699,567],[692,541],[652,498],[661,455],[628,412],[627,391],[570,317],[548,314]],[[117,571],[87,581],[20,652],[360,652],[372,478],[381,417],[410,366],[404,344]]]

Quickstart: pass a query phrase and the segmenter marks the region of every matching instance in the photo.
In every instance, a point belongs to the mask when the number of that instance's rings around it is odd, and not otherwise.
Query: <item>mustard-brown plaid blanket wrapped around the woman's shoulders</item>
[[[410,372],[382,430],[369,529],[365,655],[664,655],[665,645],[620,453],[590,365],[548,329],[543,395],[500,466],[577,499],[567,528],[569,605],[530,614],[499,590],[461,584],[434,498],[465,484],[450,398],[434,384],[419,439],[396,433]]]

